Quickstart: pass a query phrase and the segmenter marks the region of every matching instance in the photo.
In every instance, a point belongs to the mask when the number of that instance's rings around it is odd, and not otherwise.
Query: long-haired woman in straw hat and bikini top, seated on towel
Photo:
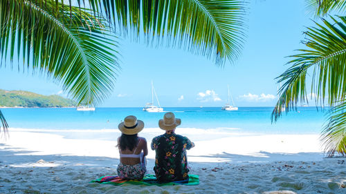
[[[147,141],[143,137],[138,137],[138,133],[144,128],[144,123],[135,116],[127,116],[118,128],[122,133],[118,138],[120,153],[118,177],[141,180],[147,171],[145,156],[148,154]]]

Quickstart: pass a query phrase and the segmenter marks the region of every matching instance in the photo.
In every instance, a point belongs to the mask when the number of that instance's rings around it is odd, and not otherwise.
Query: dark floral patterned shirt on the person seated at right
[[[154,171],[159,182],[185,180],[188,177],[186,150],[190,148],[190,139],[175,133],[165,133],[152,139],[152,150],[156,151]]]

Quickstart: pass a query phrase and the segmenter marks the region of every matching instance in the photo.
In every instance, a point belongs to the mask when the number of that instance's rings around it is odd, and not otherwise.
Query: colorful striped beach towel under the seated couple
[[[176,185],[176,184],[197,185],[199,184],[199,175],[189,175],[187,180],[167,182],[167,183],[158,183],[156,181],[155,175],[145,175],[143,180],[124,180],[118,176],[104,176],[104,177],[98,178],[97,180],[92,180],[91,182],[98,182],[100,184],[113,184],[113,185],[120,185],[124,183],[144,184],[144,185]]]

